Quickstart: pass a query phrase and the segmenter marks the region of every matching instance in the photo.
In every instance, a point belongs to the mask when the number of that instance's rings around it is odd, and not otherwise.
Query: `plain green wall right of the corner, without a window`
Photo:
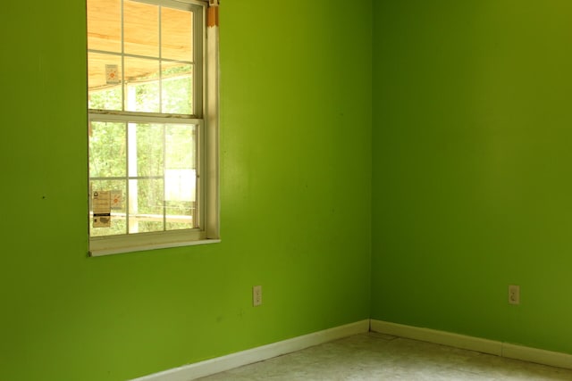
[[[571,18],[374,2],[374,319],[572,352]]]

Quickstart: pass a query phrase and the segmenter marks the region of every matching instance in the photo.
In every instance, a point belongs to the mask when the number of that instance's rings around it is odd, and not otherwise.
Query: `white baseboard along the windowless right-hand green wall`
[[[474,336],[451,334],[435,329],[405,326],[382,320],[371,320],[370,330],[429,343],[444,344],[470,351],[490,353],[515,360],[535,362],[552,367],[572,369],[572,354],[544,351],[524,345],[503,343]]]

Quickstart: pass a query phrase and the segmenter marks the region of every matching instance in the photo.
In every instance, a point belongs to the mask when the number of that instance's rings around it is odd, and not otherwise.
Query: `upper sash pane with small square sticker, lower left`
[[[88,107],[122,110],[122,58],[113,54],[88,54]]]

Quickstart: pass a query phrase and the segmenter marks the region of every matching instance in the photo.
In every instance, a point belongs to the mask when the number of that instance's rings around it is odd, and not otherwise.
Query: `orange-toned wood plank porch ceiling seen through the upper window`
[[[192,12],[124,0],[122,22],[121,9],[122,0],[88,0],[88,49],[98,51],[88,53],[89,89],[113,86],[106,65],[118,65],[121,75],[122,36],[129,54],[122,81],[158,77],[159,61],[163,70],[193,61]]]

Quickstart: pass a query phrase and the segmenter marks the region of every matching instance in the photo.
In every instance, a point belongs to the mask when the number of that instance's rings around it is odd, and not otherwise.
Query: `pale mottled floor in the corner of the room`
[[[370,333],[317,345],[200,380],[539,381],[572,380],[572,370]]]

